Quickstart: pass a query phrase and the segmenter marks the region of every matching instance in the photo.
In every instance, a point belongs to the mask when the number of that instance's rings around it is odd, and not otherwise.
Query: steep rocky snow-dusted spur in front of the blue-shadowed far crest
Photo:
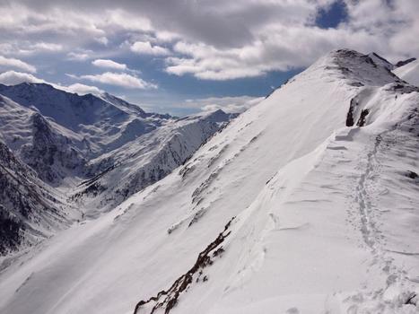
[[[83,142],[39,112],[0,95],[0,136],[39,178],[57,185],[66,176],[82,173]]]

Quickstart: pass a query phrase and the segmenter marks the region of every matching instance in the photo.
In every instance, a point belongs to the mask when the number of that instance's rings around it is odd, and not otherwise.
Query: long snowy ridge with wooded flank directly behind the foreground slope
[[[113,208],[129,196],[167,176],[196,149],[226,126],[231,115],[223,110],[170,121],[87,165],[89,177],[72,200],[101,210]]]

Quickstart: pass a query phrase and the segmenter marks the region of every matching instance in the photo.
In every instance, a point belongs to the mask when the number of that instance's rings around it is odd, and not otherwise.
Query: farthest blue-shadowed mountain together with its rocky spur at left
[[[106,93],[80,96],[45,83],[0,84],[0,94],[4,142],[55,185],[171,119]]]

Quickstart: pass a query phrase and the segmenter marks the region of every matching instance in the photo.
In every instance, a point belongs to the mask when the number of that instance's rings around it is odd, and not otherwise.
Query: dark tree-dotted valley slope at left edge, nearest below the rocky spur
[[[51,236],[76,216],[63,196],[48,188],[2,142],[0,200],[0,255]]]

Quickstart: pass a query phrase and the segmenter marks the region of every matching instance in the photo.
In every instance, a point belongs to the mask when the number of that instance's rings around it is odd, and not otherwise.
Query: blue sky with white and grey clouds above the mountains
[[[417,0],[0,0],[0,83],[242,111],[335,48],[419,57]]]

